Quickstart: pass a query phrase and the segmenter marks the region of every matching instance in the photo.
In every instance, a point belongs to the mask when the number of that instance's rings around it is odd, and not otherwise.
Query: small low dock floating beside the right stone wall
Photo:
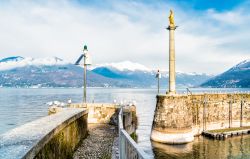
[[[250,127],[227,128],[218,130],[203,131],[202,135],[217,140],[225,140],[229,137],[250,134]]]

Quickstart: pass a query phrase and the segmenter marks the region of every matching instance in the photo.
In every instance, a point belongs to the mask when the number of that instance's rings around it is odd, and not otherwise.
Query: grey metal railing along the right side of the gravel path
[[[119,159],[149,159],[123,127],[123,110],[119,112]]]

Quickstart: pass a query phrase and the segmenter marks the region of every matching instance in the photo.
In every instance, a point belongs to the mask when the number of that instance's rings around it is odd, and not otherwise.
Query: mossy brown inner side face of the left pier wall
[[[54,136],[48,136],[47,138],[51,139],[41,148],[35,158],[72,158],[77,145],[87,136],[87,117],[88,115],[85,114],[68,123],[64,129],[55,133]],[[43,142],[43,140],[41,140],[40,143]],[[27,158],[29,157],[27,156]]]

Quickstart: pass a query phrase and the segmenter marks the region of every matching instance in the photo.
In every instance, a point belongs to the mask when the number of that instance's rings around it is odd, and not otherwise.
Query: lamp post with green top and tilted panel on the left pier
[[[84,63],[83,63],[83,67],[84,67],[84,72],[83,72],[83,103],[87,102],[87,92],[86,92],[86,87],[87,87],[87,65],[91,65],[91,58],[90,55],[88,53],[88,48],[87,45],[84,45],[83,48],[83,54],[78,58],[78,60],[76,61],[75,65],[81,65],[80,62],[82,60],[82,58],[84,57]]]

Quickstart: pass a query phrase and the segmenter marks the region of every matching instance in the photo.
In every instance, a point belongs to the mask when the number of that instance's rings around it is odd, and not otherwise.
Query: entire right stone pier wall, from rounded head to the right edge
[[[250,125],[250,94],[158,95],[151,139],[191,142],[203,130]]]

